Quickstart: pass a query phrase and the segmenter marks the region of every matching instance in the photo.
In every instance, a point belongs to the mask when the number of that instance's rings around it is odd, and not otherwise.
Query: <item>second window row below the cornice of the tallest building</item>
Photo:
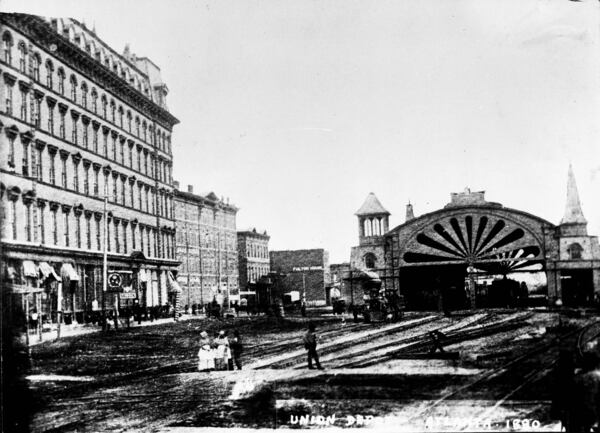
[[[13,115],[12,91],[13,86],[6,80],[5,75],[5,113]],[[38,128],[43,128],[51,135],[57,135],[63,140],[70,140],[73,144],[86,150],[102,155],[104,158],[124,165],[131,170],[138,171],[146,176],[156,178],[160,182],[172,183],[172,164],[161,157],[156,158],[151,151],[135,144],[133,140],[119,135],[116,131],[91,121],[85,116],[71,109],[67,116],[68,107],[59,104],[58,116],[55,116],[55,103],[47,99],[47,122],[42,121],[44,111],[41,107],[42,97],[36,91],[21,87],[20,119]],[[56,126],[58,124],[58,131]],[[43,126],[42,126],[43,125]],[[67,133],[67,128],[70,134]],[[58,134],[57,134],[58,132]],[[9,161],[10,163],[11,161]]]

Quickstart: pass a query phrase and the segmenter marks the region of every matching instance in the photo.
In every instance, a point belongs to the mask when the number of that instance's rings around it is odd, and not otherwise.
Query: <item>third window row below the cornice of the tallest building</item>
[[[14,166],[17,135],[10,128],[5,132],[8,137],[9,165],[12,161]],[[129,177],[108,167],[102,168],[100,164],[92,164],[91,161],[82,159],[79,153],[71,155],[54,146],[45,146],[40,141],[34,144],[21,138],[20,142],[20,171],[23,176],[89,197],[102,198],[106,194],[112,203],[173,218],[173,197],[169,191],[157,191],[155,187],[136,180],[135,176]]]

